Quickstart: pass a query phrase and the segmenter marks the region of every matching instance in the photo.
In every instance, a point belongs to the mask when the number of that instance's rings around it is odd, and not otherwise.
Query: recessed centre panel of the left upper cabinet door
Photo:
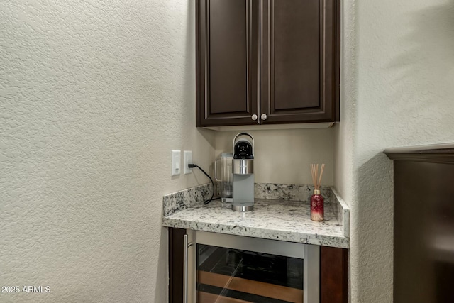
[[[248,110],[248,23],[244,2],[209,2],[209,99],[216,100],[209,103],[211,114]]]

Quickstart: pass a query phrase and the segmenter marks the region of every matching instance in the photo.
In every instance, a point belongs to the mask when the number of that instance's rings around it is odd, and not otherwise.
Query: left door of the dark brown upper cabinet
[[[258,0],[196,4],[196,126],[258,123]]]

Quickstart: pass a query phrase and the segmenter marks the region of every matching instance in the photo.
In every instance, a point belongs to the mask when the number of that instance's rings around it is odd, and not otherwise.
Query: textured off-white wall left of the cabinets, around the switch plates
[[[2,1],[0,302],[167,302],[170,150],[195,128],[193,1]]]

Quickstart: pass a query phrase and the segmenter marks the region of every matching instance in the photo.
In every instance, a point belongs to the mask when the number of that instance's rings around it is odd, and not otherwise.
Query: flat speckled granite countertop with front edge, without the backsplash
[[[194,205],[164,216],[162,225],[196,231],[348,248],[349,238],[331,204],[325,204],[325,221],[310,219],[309,202],[255,199],[253,211],[232,211],[218,200]],[[348,222],[347,222],[348,223]]]

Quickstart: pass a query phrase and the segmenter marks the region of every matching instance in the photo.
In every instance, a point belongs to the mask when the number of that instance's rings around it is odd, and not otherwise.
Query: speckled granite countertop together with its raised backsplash
[[[266,193],[267,199],[261,199],[258,194],[258,190],[263,188],[266,188],[262,192]],[[165,196],[162,224],[197,231],[348,248],[348,232],[345,233],[348,227],[343,224],[345,219],[349,219],[345,202],[335,190],[322,188],[322,194],[328,200],[325,221],[311,221],[309,202],[304,201],[304,197],[310,199],[311,190],[310,186],[304,185],[256,184],[255,194],[259,197],[256,198],[254,211],[242,213],[232,211],[229,204],[222,204],[219,200],[204,205],[205,197],[211,195],[211,184],[206,184]]]

